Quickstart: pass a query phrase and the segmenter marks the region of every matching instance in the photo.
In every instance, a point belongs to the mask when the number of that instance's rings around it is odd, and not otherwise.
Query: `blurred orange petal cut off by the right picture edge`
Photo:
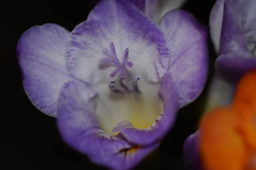
[[[241,136],[256,151],[256,70],[249,71],[239,81],[233,108],[239,116]]]

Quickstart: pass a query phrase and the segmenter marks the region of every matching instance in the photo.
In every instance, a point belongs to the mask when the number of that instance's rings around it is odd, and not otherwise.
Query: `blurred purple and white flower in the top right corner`
[[[236,83],[256,68],[256,1],[217,0],[210,15],[210,33],[219,57],[216,69]]]

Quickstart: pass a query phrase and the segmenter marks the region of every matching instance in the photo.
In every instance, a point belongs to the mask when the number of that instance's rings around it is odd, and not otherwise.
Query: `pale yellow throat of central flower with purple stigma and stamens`
[[[150,127],[157,122],[157,116],[161,113],[162,100],[158,92],[160,84],[132,77],[126,69],[132,69],[133,66],[128,61],[128,52],[129,49],[126,48],[123,61],[120,62],[111,42],[110,50],[104,48],[105,57],[99,59],[99,65],[116,65],[116,69],[110,74],[114,81],[94,87],[99,94],[95,113],[100,125],[110,134],[116,134],[112,133],[113,127],[121,121],[129,121],[137,129]],[[118,73],[120,74],[117,76]]]

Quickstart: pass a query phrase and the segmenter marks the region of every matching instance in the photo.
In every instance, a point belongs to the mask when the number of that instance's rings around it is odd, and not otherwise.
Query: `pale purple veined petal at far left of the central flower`
[[[73,79],[65,62],[70,32],[55,24],[34,26],[17,43],[23,87],[36,108],[56,116],[60,86]]]

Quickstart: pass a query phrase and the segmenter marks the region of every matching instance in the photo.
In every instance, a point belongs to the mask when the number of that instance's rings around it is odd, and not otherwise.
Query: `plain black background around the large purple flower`
[[[6,1],[7,2],[7,1]],[[7,47],[2,53],[2,88],[1,120],[1,170],[18,168],[49,169],[104,169],[91,163],[83,156],[65,145],[58,135],[55,119],[38,111],[29,101],[22,86],[20,68],[15,57],[15,46],[21,34],[28,28],[44,23],[56,23],[72,31],[73,28],[86,20],[93,8],[92,0],[33,0],[8,1],[2,10],[4,22],[1,27],[2,37]],[[208,27],[209,13],[215,0],[188,0],[182,7],[191,12]],[[215,53],[209,40],[211,57],[210,70],[213,68]],[[7,60],[5,62],[5,59]],[[7,63],[7,64],[6,64]],[[6,76],[6,77],[5,77]],[[211,76],[211,73],[209,74]],[[209,82],[209,81],[208,81]],[[183,170],[182,146],[189,134],[196,131],[198,119],[203,112],[203,94],[192,104],[180,110],[177,121],[163,139],[160,147],[151,153],[135,169],[169,169]],[[3,126],[3,127],[2,127]]]

